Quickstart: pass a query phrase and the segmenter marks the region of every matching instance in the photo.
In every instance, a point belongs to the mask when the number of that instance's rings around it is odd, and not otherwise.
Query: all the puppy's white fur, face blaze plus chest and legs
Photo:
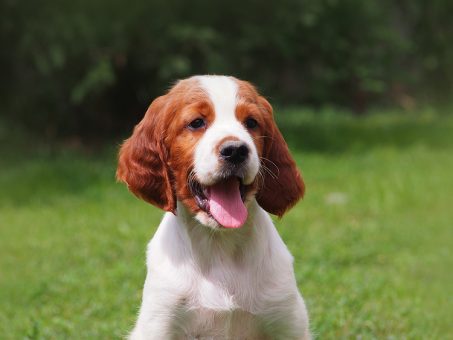
[[[245,182],[259,170],[255,145],[234,110],[237,85],[227,77],[199,77],[215,107],[215,121],[195,152],[195,171],[216,181],[213,151],[225,136],[247,143]],[[148,244],[143,301],[131,339],[310,339],[308,315],[293,259],[269,215],[255,199],[238,229],[212,229],[178,202]],[[201,221],[201,223],[200,223]],[[213,227],[213,226],[211,226]]]

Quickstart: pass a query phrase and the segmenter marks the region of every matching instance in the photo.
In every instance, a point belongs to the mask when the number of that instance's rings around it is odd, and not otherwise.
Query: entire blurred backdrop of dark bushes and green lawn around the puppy
[[[114,179],[177,79],[274,105],[319,339],[451,338],[453,2],[0,0],[0,334],[120,338],[161,212]],[[450,334],[450,336],[449,336]]]

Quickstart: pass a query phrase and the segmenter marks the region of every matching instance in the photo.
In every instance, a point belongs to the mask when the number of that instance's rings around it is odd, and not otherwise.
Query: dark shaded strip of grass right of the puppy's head
[[[375,113],[364,117],[283,110],[278,125],[291,148],[315,152],[361,152],[376,147],[445,148],[453,145],[453,119],[423,114]]]

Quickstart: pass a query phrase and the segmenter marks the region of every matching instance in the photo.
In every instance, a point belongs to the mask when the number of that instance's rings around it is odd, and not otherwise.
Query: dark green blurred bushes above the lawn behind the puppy
[[[357,112],[453,84],[448,0],[0,0],[0,12],[2,112],[50,137],[129,129],[199,73]]]

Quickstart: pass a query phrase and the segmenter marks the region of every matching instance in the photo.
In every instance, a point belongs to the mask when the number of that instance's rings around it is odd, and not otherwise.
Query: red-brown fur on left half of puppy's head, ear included
[[[153,101],[119,153],[117,178],[136,196],[166,211],[176,212],[176,200],[192,211],[199,208],[187,185],[192,157],[201,131],[187,125],[203,114],[214,119],[207,95],[188,79]]]

